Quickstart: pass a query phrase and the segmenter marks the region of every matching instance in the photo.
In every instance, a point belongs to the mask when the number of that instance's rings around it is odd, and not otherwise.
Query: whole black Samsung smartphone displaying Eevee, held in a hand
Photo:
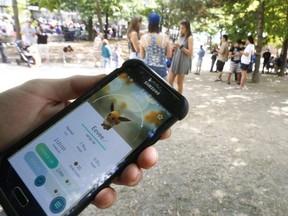
[[[77,215],[188,102],[142,61],[128,60],[1,155],[8,215]]]

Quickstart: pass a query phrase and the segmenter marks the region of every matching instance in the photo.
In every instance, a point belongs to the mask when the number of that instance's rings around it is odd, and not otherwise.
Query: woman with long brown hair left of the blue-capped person
[[[127,30],[128,46],[130,50],[129,59],[139,59],[140,52],[140,28],[142,25],[142,17],[136,15],[132,17]]]

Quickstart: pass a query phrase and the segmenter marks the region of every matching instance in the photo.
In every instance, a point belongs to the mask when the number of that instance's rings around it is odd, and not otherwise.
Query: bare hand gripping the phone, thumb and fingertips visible
[[[12,147],[19,139],[40,126],[104,78],[99,76],[74,76],[58,80],[32,80],[0,94],[0,152]],[[64,88],[63,88],[64,87]],[[21,112],[19,112],[21,107]],[[13,122],[13,124],[11,124]],[[162,135],[170,136],[171,130]],[[142,169],[153,167],[158,159],[155,147],[147,147],[135,163],[126,167],[113,181],[115,184],[135,186],[142,177]],[[101,190],[93,200],[98,208],[108,208],[116,200],[112,187]]]

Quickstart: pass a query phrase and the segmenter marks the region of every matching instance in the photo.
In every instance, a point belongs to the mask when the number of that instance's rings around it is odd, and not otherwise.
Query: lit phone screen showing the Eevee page
[[[47,215],[69,212],[171,113],[127,73],[9,158]]]

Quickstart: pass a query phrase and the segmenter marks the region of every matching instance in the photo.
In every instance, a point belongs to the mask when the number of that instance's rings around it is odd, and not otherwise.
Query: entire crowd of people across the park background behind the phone
[[[177,90],[183,92],[183,83],[185,74],[189,73],[192,68],[193,56],[193,37],[190,29],[190,22],[187,19],[180,21],[179,38],[176,40],[171,35],[163,33],[160,29],[160,16],[151,13],[148,17],[148,27],[143,30],[143,18],[136,15],[131,18],[127,29],[127,39],[129,46],[129,58],[141,59],[161,77],[163,77],[172,86],[177,82]],[[0,23],[0,51],[2,61],[9,63],[9,59],[5,55],[2,46],[2,38],[7,32],[7,28],[3,25],[4,20]],[[40,65],[44,58],[49,62],[49,46],[47,29],[50,26],[38,23],[37,27],[31,25],[32,21],[28,20],[26,25],[21,28],[23,36],[23,44],[25,53],[29,58],[33,58],[35,64]],[[60,33],[62,28],[55,26],[56,32]],[[172,40],[174,39],[174,40]],[[35,44],[37,46],[35,46]],[[120,65],[123,61],[122,51],[119,44],[110,46],[107,39],[103,39],[101,32],[97,33],[94,39],[94,57],[95,67],[104,67],[113,69]],[[249,36],[244,42],[238,40],[232,45],[229,44],[228,36],[223,35],[221,44],[215,45],[211,50],[211,68],[210,72],[217,72],[216,82],[222,81],[223,69],[225,63],[230,60],[230,69],[227,76],[227,84],[231,84],[232,74],[235,74],[235,80],[239,85],[238,89],[245,88],[247,73],[252,71],[253,63],[255,63],[254,39]],[[200,75],[202,62],[206,54],[203,45],[200,46],[196,53],[196,75]],[[262,73],[279,72],[281,66],[281,56],[271,55],[269,50],[263,53],[264,63]],[[63,48],[63,63],[70,63],[77,60],[71,45]],[[214,66],[216,64],[216,70]]]

